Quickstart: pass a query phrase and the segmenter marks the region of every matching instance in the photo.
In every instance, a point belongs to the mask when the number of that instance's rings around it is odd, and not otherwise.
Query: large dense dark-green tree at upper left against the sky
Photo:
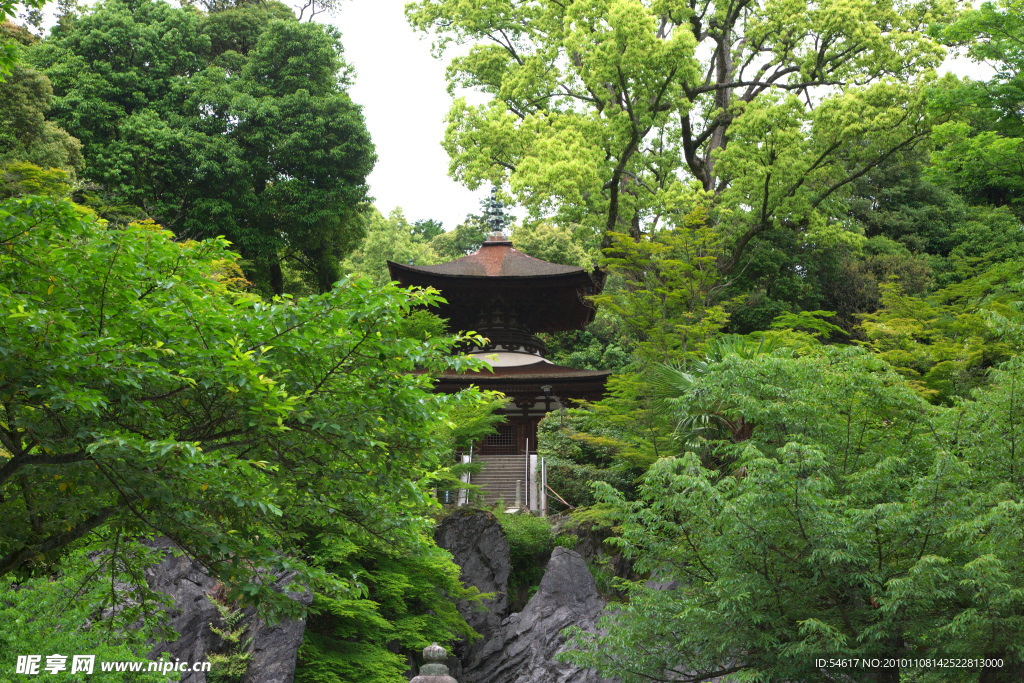
[[[336,30],[278,3],[210,16],[155,0],[70,15],[30,57],[83,175],[188,239],[226,237],[249,279],[316,292],[361,237],[375,156]]]

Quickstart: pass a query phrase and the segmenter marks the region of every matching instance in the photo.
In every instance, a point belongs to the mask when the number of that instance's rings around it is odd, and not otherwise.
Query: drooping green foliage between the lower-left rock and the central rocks
[[[451,556],[424,535],[415,548],[391,548],[369,535],[333,539],[317,554],[331,571],[367,586],[364,598],[317,595],[299,651],[297,683],[398,683],[407,655],[431,642],[474,638],[456,609],[478,600]]]

